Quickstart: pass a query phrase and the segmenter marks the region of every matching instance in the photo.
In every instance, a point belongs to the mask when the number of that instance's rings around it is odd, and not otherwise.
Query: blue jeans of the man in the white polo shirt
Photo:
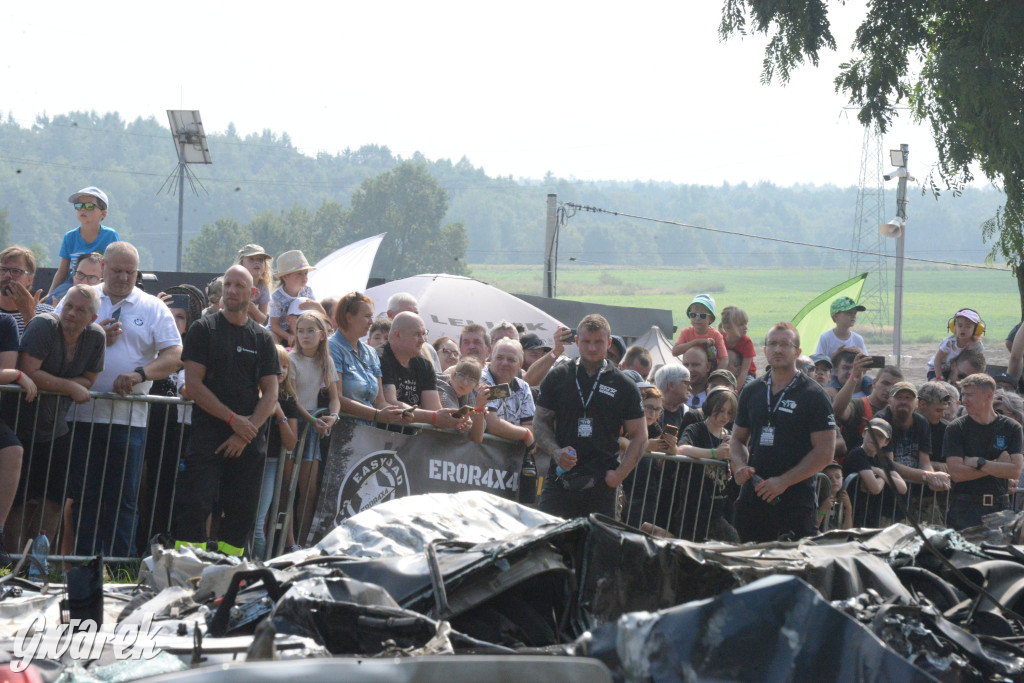
[[[74,426],[73,467],[84,479],[72,508],[75,553],[131,556],[145,428],[87,422]]]

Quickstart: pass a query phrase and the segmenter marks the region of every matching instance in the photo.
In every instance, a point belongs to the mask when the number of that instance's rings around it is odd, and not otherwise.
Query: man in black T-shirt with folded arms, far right
[[[946,428],[943,452],[953,480],[946,524],[977,526],[984,515],[1010,507],[1008,484],[1024,465],[1021,426],[992,410],[995,381],[970,375],[961,382],[967,415]]]

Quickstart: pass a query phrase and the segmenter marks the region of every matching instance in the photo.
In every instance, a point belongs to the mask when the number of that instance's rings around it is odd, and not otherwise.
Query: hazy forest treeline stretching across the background
[[[209,124],[208,124],[209,125]],[[311,261],[388,231],[375,275],[428,270],[468,272],[467,263],[540,264],[546,197],[678,223],[840,248],[853,245],[856,187],[582,181],[488,176],[467,159],[402,159],[383,145],[302,154],[287,133],[211,134],[213,164],[194,166],[198,196],[185,193],[186,269],[218,270],[250,241],[278,253],[299,248]],[[95,184],[111,198],[105,223],[140,248],[142,264],[173,269],[177,194],[166,182],[177,164],[171,136],[156,118],[117,114],[41,116],[31,125],[0,121],[0,239],[33,246],[55,265],[61,236],[76,225],[67,197]],[[851,177],[859,160],[851,154]],[[919,172],[919,176],[926,175]],[[967,188],[935,199],[915,194],[907,254],[981,262],[980,224],[1002,195]],[[895,213],[895,191],[882,213]],[[865,207],[865,225],[877,209]],[[6,225],[5,214],[6,211]],[[3,230],[7,233],[4,234]],[[868,230],[870,231],[870,230]],[[616,265],[845,265],[850,255],[737,238],[625,216],[566,212],[559,258]]]

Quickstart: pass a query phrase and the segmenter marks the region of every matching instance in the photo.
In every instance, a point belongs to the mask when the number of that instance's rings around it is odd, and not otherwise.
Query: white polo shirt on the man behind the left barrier
[[[114,380],[120,375],[153,362],[165,348],[181,346],[181,335],[171,309],[157,297],[134,288],[127,297],[112,304],[111,298],[103,293],[102,285],[93,285],[92,289],[99,294],[99,317],[96,321],[113,317],[114,311],[120,309],[122,331],[117,341],[106,347],[103,371],[96,376],[92,391],[114,391]],[[62,306],[63,301],[60,301],[57,313]],[[152,386],[152,380],[139,382],[131,388],[131,392],[147,394]],[[116,425],[130,423],[132,427],[145,427],[148,418],[150,404],[141,400],[94,398],[81,405],[72,405],[68,411],[69,420],[100,424],[113,422]]]

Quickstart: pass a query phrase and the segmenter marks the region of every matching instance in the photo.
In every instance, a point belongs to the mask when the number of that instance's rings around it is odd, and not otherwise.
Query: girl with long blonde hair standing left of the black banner
[[[296,498],[299,519],[295,528],[298,538],[305,539],[312,521],[313,501],[316,500],[316,475],[319,468],[321,437],[331,432],[338,421],[341,401],[338,398],[338,372],[328,349],[328,333],[331,324],[317,312],[303,311],[295,319],[295,348],[289,354],[292,375],[295,377],[295,395],[298,403],[299,421],[305,443],[302,449],[302,465],[299,469],[299,490]],[[314,418],[321,395],[328,395],[328,412]],[[299,435],[301,440],[302,434]],[[291,472],[286,469],[286,479],[291,480]]]

